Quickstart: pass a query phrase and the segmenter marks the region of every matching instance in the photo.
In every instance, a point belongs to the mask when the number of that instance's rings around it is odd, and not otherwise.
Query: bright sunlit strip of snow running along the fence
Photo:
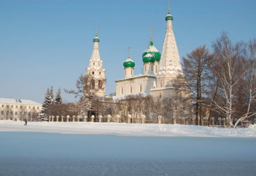
[[[0,131],[158,137],[256,137],[249,128],[212,128],[180,124],[117,124],[93,122],[0,121]]]

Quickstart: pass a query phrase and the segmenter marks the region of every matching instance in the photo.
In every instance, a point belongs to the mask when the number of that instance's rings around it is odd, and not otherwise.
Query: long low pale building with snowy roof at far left
[[[27,99],[0,98],[0,119],[22,121],[37,119],[42,104]]]

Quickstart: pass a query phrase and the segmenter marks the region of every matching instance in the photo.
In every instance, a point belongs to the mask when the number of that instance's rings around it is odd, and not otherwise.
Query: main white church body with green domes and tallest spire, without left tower
[[[145,52],[143,52],[144,74],[134,76],[134,61],[128,56],[123,63],[125,78],[116,81],[116,96],[144,93],[153,97],[173,97],[175,94],[172,83],[180,74],[182,75],[179,51],[176,46],[174,31],[172,29],[173,17],[165,17],[167,28],[163,42],[162,55],[154,47],[153,36]]]

